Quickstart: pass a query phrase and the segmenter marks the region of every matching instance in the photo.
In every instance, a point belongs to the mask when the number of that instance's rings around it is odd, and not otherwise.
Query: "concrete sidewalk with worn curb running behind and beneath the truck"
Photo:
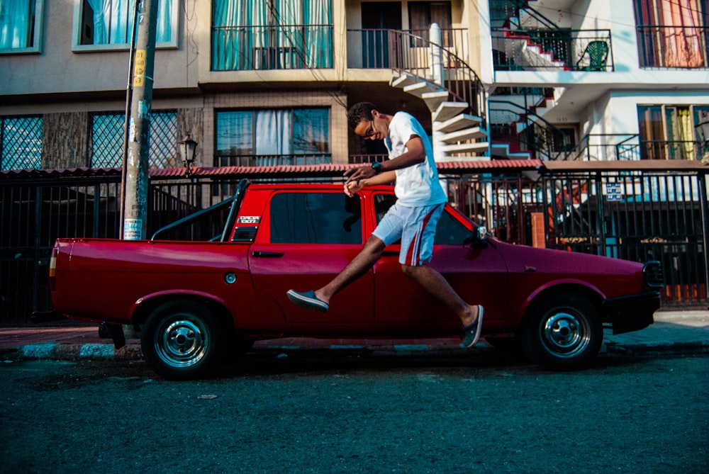
[[[614,336],[604,334],[601,351],[709,351],[709,310],[658,311],[653,325]],[[461,351],[458,338],[445,339],[313,339],[284,338],[259,341],[255,350],[361,349],[377,352]],[[473,349],[489,350],[484,339]],[[126,334],[126,344],[114,349],[101,339],[96,325],[80,327],[0,328],[0,360],[13,359],[142,359],[140,339]]]

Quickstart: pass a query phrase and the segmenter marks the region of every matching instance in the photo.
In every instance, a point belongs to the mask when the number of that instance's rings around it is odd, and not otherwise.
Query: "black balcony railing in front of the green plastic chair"
[[[498,71],[613,71],[610,30],[510,30],[493,28]]]

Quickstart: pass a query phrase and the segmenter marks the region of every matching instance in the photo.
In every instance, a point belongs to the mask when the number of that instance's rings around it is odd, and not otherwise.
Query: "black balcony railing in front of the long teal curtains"
[[[332,25],[214,26],[212,70],[333,67]]]

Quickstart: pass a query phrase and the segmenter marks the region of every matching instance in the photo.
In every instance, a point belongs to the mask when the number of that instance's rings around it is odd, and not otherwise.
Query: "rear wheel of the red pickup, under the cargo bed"
[[[208,307],[177,300],[157,307],[147,318],[140,345],[147,365],[165,378],[203,376],[216,364],[225,331]]]

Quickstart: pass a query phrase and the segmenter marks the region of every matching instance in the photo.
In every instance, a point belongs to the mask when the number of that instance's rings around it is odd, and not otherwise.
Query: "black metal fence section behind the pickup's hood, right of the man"
[[[707,174],[603,171],[450,181],[452,203],[506,242],[659,260],[664,307],[709,303]]]

